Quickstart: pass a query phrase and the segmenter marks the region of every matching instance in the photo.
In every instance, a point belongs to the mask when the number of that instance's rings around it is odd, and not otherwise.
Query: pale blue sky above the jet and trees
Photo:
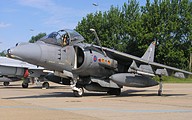
[[[137,0],[145,5],[145,0]],[[0,52],[39,33],[75,29],[89,13],[123,6],[128,0],[0,0]],[[93,3],[98,6],[94,6]]]

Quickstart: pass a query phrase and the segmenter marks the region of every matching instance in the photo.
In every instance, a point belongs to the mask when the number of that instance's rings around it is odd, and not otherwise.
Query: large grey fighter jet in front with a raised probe
[[[151,77],[191,72],[154,62],[155,42],[140,58],[114,49],[102,47],[94,29],[94,44],[87,44],[74,30],[59,30],[36,43],[21,43],[8,50],[13,58],[43,66],[54,71],[46,76],[50,81],[70,85],[75,96],[83,96],[84,89],[119,95],[123,86],[151,87],[159,83]],[[158,72],[155,72],[157,69]],[[160,79],[158,95],[162,95]]]

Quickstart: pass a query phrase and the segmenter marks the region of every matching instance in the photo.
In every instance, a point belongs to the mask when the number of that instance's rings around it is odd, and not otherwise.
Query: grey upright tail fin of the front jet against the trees
[[[154,55],[155,55],[155,44],[156,42],[153,41],[150,46],[148,47],[147,51],[145,54],[141,57],[144,60],[153,62],[154,61]]]

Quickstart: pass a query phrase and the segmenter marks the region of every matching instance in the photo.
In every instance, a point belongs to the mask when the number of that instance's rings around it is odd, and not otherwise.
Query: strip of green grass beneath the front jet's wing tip
[[[156,81],[159,81],[159,77],[154,77]],[[192,76],[188,78],[176,78],[172,76],[163,76],[162,77],[164,83],[192,83]]]

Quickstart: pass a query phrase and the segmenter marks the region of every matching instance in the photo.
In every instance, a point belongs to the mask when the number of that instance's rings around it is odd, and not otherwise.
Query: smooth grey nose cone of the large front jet
[[[37,44],[26,43],[7,50],[9,57],[27,62],[38,61],[41,58],[41,48]]]

